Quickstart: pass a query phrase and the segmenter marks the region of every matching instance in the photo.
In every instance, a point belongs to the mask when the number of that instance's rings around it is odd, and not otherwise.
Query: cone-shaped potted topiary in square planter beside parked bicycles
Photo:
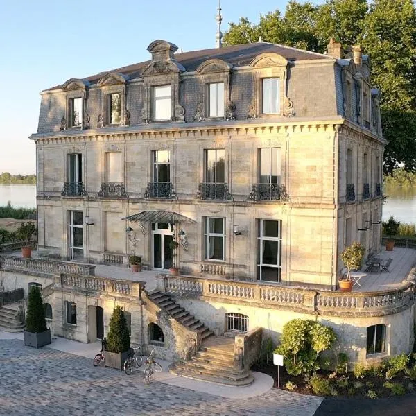
[[[105,347],[105,367],[123,370],[124,361],[130,354],[130,333],[123,309],[116,306],[110,320],[110,330]]]

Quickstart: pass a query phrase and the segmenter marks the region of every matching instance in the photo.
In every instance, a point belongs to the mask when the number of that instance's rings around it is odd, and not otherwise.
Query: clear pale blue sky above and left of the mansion
[[[319,0],[313,1],[320,3]],[[40,92],[148,60],[147,46],[167,40],[184,52],[215,46],[218,0],[0,0],[0,173],[35,173]],[[286,0],[222,0],[223,33],[241,16]]]

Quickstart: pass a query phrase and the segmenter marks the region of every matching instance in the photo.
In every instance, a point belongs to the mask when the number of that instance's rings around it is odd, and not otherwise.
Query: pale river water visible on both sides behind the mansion
[[[416,223],[416,188],[384,187],[383,194],[388,196],[383,204],[383,220],[392,215],[401,223]],[[35,207],[35,185],[0,184],[0,207],[8,201],[13,207]]]

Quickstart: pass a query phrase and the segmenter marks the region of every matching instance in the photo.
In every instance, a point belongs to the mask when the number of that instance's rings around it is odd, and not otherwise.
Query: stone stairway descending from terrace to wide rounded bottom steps
[[[250,370],[234,367],[234,338],[214,336],[203,322],[166,293],[154,291],[148,297],[181,324],[201,333],[202,345],[199,351],[191,360],[171,365],[173,374],[234,387],[249,385],[254,381]]]

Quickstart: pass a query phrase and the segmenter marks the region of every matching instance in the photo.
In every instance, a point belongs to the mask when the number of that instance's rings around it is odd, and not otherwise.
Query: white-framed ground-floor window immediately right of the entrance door
[[[225,218],[205,217],[205,259],[225,260]]]

